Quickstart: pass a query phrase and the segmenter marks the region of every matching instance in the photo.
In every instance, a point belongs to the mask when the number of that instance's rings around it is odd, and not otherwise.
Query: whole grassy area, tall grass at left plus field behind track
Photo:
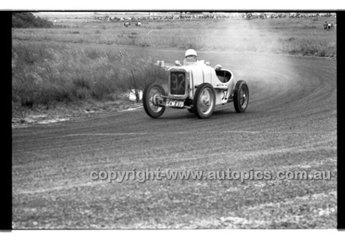
[[[52,18],[57,19],[56,28],[12,30],[14,106],[49,109],[59,102],[117,99],[116,94],[133,88],[128,67],[134,69],[140,89],[164,80],[164,72],[153,65],[157,60],[135,51],[109,51],[104,45],[337,55],[336,31],[322,26],[325,20],[334,21],[330,18],[144,21],[130,28],[80,14],[63,22],[59,16]]]

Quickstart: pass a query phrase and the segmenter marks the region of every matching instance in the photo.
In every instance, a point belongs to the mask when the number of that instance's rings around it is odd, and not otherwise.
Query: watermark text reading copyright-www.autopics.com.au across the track
[[[124,181],[137,181],[144,183],[153,180],[229,180],[244,181],[248,180],[331,180],[332,173],[330,170],[170,170],[157,168],[156,170],[92,170],[90,172],[92,180],[115,181],[122,183]]]

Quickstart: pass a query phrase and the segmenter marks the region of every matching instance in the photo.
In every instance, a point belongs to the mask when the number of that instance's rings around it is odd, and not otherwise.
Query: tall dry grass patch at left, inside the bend
[[[12,43],[12,101],[23,106],[73,100],[112,100],[134,87],[143,89],[165,73],[152,61],[133,53],[64,43]]]

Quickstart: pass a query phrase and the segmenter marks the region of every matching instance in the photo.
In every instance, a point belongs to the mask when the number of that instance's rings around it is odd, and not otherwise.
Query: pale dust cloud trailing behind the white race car
[[[272,20],[270,20],[272,21]],[[253,97],[286,94],[296,87],[294,57],[275,54],[286,36],[266,20],[228,20],[212,31],[215,50],[200,52],[212,66],[221,64],[246,80]]]

